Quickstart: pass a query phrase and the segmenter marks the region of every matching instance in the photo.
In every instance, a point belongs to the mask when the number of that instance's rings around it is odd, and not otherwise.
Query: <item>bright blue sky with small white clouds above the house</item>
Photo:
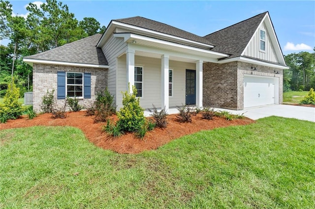
[[[13,12],[27,15],[33,0],[10,0]],[[37,1],[40,3],[41,1]],[[199,36],[220,30],[269,11],[284,54],[313,52],[315,1],[104,1],[62,0],[80,21],[94,17],[108,26],[113,19],[142,16]],[[5,44],[5,41],[2,41]]]

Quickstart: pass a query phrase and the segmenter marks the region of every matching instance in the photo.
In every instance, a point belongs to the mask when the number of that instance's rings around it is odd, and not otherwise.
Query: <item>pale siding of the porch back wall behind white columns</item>
[[[135,56],[135,66],[143,67],[143,92],[140,104],[143,108],[152,108],[152,104],[161,108],[161,59]],[[194,70],[195,63],[169,61],[169,69],[173,70],[173,96],[169,97],[169,106],[185,104],[185,79],[186,69]],[[123,96],[121,92],[126,91],[126,55],[118,59],[118,92],[117,110],[122,107]]]

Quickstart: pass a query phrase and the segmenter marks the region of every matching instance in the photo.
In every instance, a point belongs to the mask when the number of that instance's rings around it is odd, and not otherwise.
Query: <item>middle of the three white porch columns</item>
[[[165,107],[166,112],[169,109],[168,101],[168,62],[169,55],[161,56],[161,108]]]

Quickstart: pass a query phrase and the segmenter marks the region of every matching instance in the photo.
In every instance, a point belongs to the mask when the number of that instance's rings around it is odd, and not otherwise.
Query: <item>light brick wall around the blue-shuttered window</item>
[[[58,106],[65,100],[57,100],[57,71],[91,73],[91,99],[82,99],[81,105],[88,105],[95,100],[96,93],[104,91],[107,86],[107,70],[100,68],[74,67],[63,65],[33,64],[33,109],[40,112],[41,98],[49,91],[55,90]],[[68,110],[68,109],[67,109]]]

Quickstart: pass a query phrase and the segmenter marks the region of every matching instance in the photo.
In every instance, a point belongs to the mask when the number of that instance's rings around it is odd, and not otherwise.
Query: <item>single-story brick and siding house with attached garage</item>
[[[36,111],[47,89],[58,104],[66,96],[88,104],[106,87],[119,110],[128,83],[143,108],[281,104],[288,69],[268,12],[204,37],[143,17],[112,20],[103,34],[24,61],[33,67]]]

